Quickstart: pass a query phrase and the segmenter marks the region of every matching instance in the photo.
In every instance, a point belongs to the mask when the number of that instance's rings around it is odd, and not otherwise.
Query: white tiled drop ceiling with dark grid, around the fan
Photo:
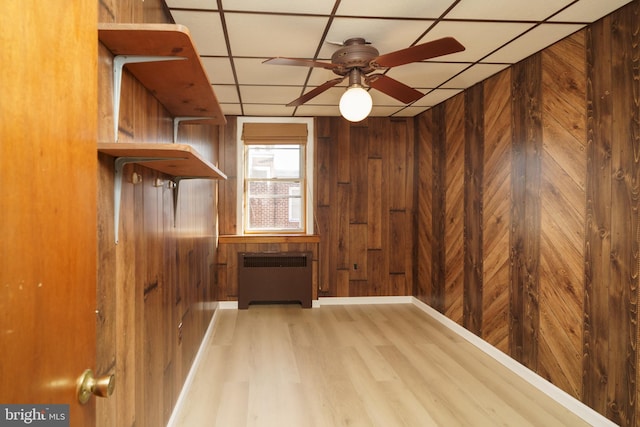
[[[389,69],[424,96],[410,105],[375,89],[370,116],[412,117],[630,0],[166,0],[189,29],[222,111],[230,116],[339,116],[343,81],[299,107],[286,104],[337,76],[269,58],[331,61],[352,37],[380,54],[441,37],[465,50]]]

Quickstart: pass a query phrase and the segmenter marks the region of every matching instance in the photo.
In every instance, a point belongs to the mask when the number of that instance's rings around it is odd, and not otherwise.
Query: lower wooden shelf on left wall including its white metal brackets
[[[114,157],[113,221],[116,244],[120,224],[120,201],[124,166],[142,164],[150,169],[173,177],[173,205],[177,216],[180,181],[184,179],[227,179],[217,167],[202,158],[190,145],[185,144],[136,144],[98,143],[98,152]],[[175,221],[175,216],[174,216]]]

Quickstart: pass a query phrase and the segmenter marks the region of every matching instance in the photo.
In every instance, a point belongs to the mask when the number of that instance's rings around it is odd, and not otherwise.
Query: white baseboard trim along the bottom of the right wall
[[[536,374],[531,369],[522,365],[515,359],[509,357],[507,354],[498,350],[496,347],[492,346],[482,338],[463,328],[439,311],[420,301],[418,298],[412,297],[412,299],[413,304],[416,307],[420,308],[433,319],[440,322],[443,326],[449,328],[451,331],[455,332],[456,334],[476,346],[478,349],[491,356],[505,368],[509,369],[511,372],[515,373],[520,378],[524,379],[529,384],[554,399],[556,402],[560,403],[562,406],[567,408],[567,410],[582,418],[585,422],[593,426],[617,426],[617,424],[615,424],[613,421],[588,407],[561,388],[550,383],[545,378]]]

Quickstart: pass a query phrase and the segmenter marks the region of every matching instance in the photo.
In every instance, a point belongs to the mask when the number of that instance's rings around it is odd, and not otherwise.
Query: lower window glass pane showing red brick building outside
[[[301,230],[299,181],[250,181],[247,185],[249,230]]]

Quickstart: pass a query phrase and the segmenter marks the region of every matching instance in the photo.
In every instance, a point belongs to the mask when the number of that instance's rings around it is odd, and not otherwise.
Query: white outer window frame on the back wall
[[[306,176],[306,199],[307,199],[307,217],[305,219],[306,234],[314,234],[314,213],[313,213],[313,159],[314,159],[314,120],[311,117],[238,117],[236,126],[236,141],[237,141],[237,153],[238,153],[238,200],[236,206],[236,224],[238,224],[238,234],[255,234],[247,233],[245,230],[244,221],[244,141],[242,140],[242,128],[245,123],[305,123],[307,125],[307,144],[305,147],[305,176]]]

